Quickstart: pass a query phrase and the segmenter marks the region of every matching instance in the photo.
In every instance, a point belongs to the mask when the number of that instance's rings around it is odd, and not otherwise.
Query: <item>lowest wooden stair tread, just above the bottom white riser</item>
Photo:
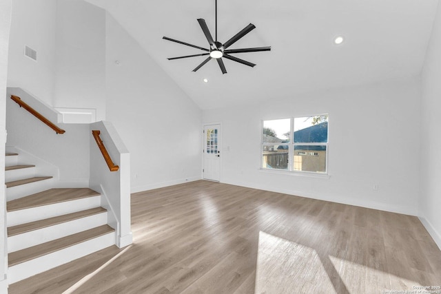
[[[8,266],[14,266],[22,262],[33,260],[34,258],[39,258],[43,255],[47,255],[55,251],[68,248],[70,246],[74,246],[75,244],[91,240],[107,233],[111,233],[112,231],[114,231],[112,227],[104,224],[103,226],[96,227],[94,229],[82,231],[80,233],[75,233],[73,235],[59,238],[57,240],[45,242],[37,246],[32,246],[23,250],[9,253]]]

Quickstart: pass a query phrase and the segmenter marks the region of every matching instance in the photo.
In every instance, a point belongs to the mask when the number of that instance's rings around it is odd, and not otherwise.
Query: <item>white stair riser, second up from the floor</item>
[[[8,237],[8,253],[107,224],[107,212]]]

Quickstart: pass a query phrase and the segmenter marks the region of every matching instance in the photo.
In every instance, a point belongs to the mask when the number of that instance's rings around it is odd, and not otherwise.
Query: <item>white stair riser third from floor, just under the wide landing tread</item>
[[[9,211],[6,213],[8,227],[17,226],[17,224],[25,224],[26,222],[34,222],[35,220],[43,220],[54,216],[62,216],[64,214],[83,211],[101,206],[101,196],[81,198],[66,202],[60,202],[42,207],[32,207],[30,209],[21,209],[18,211]]]

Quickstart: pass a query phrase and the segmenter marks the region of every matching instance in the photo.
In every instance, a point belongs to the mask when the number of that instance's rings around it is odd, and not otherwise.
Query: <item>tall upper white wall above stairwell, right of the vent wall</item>
[[[105,119],[105,10],[57,1],[54,107],[96,109]]]

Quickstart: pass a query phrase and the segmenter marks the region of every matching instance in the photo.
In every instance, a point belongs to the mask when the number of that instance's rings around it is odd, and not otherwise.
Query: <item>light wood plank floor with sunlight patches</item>
[[[418,218],[397,213],[197,181],[132,194],[132,231],[134,244],[17,282],[9,293],[382,293],[441,285],[440,249]]]

